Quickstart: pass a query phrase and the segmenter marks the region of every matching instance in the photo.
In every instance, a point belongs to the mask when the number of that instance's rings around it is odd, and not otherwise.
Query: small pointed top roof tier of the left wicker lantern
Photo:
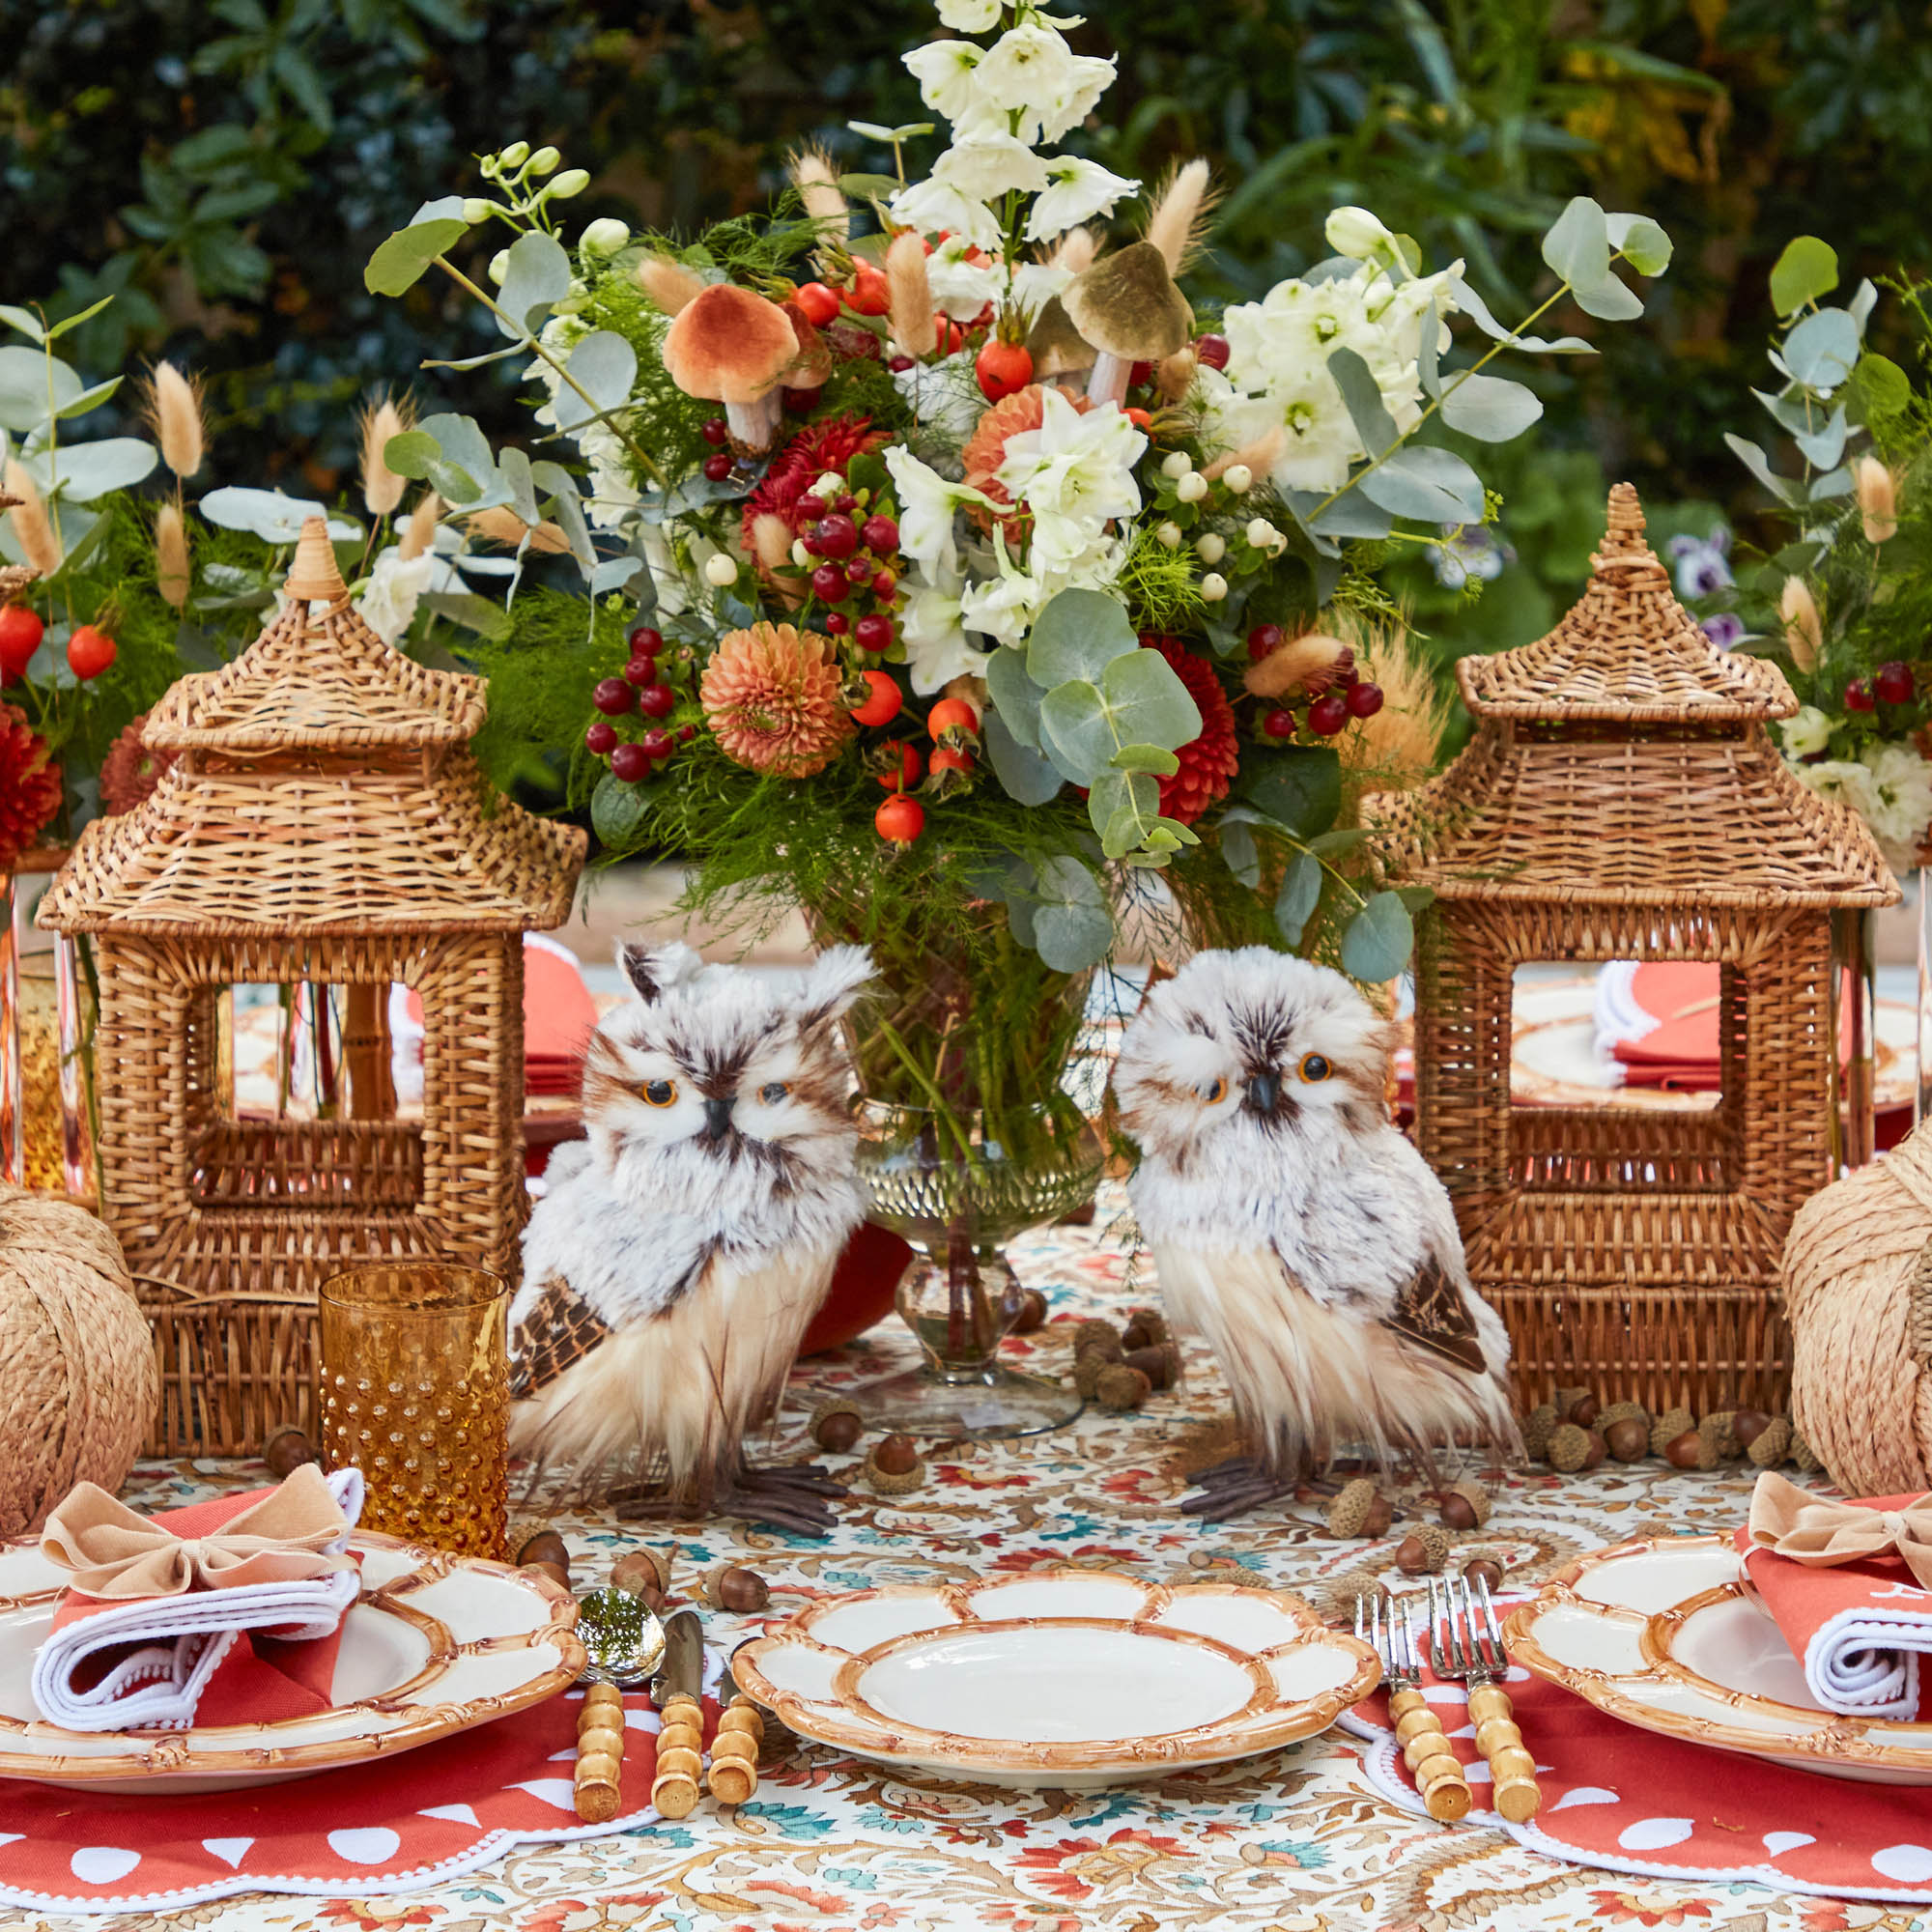
[[[350,603],[328,526],[309,518],[282,612],[232,665],[182,678],[143,740],[156,752],[357,752],[466,744],[481,724],[481,680],[392,651]]]

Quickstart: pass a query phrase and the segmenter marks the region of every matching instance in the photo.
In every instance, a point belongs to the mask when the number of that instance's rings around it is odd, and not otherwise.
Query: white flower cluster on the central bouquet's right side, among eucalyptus
[[[1227,369],[1202,369],[1200,394],[1209,442],[1236,450],[1281,431],[1273,481],[1281,489],[1333,491],[1368,450],[1356,433],[1327,359],[1339,348],[1368,363],[1383,408],[1406,435],[1422,419],[1422,330],[1455,311],[1451,282],[1463,263],[1412,276],[1393,236],[1366,209],[1337,209],[1327,222],[1337,253],[1360,261],[1325,282],[1277,282],[1260,301],[1221,317]]]

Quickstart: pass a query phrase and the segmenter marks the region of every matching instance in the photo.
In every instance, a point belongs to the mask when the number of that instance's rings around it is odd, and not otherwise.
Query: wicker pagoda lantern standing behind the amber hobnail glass
[[[145,738],[174,767],[87,827],[39,914],[93,935],[102,1215],[145,1287],[172,1449],[253,1451],[309,1420],[315,1289],[340,1267],[514,1275],[524,933],[562,923],[583,864],[582,831],[491,794],[481,680],[383,643],[319,518],[286,591],[242,657],[155,707]],[[398,983],[423,1005],[419,1119],[386,1078]],[[346,1034],[359,1012],[379,1047],[352,1063],[348,1117],[238,1115],[236,985],[342,989]]]

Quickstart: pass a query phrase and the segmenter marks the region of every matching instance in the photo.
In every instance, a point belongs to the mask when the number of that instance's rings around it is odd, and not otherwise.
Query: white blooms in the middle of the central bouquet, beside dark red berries
[[[1024,564],[999,527],[991,545],[976,545],[962,558],[958,510],[1001,506],[964,483],[949,483],[908,448],[885,450],[898,495],[900,549],[918,574],[900,630],[912,688],[922,696],[985,668],[985,653],[968,632],[1022,643],[1061,591],[1107,589],[1121,574],[1126,537],[1109,533],[1109,524],[1140,512],[1134,464],[1148,439],[1111,402],[1082,412],[1049,386],[1043,412],[1037,429],[1007,439],[995,471],[1009,498],[1032,516]]]

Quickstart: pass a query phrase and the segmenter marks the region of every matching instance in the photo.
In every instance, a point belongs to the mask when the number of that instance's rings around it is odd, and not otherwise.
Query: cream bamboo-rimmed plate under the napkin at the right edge
[[[1727,1536],[1656,1536],[1559,1571],[1509,1617],[1517,1663],[1598,1710],[1801,1772],[1932,1785],[1932,1725],[1822,1710]]]

